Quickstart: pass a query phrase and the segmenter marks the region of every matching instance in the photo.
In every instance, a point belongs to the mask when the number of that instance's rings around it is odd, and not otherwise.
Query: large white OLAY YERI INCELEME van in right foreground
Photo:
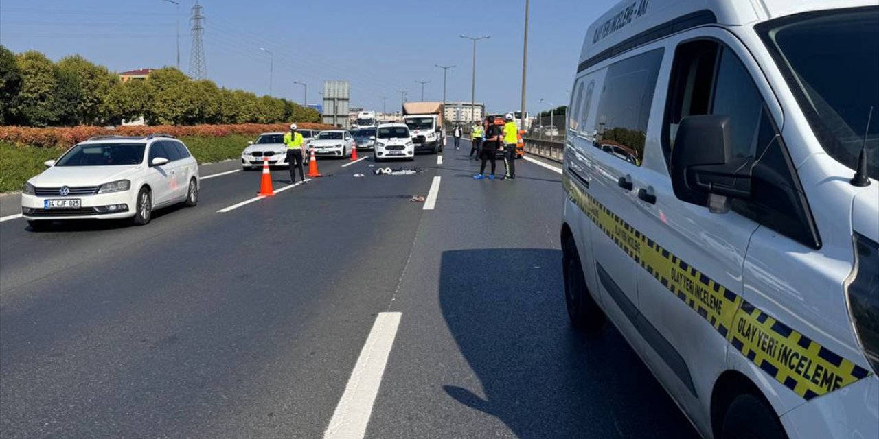
[[[879,437],[875,0],[624,1],[571,90],[573,325],[705,437]]]

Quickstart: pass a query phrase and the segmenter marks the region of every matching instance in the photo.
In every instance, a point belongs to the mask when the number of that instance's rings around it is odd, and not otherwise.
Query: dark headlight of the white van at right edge
[[[848,307],[864,356],[879,373],[879,243],[854,234],[854,272]]]

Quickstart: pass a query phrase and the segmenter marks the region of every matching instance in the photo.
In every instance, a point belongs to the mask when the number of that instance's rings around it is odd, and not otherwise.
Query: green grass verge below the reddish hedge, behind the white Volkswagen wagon
[[[199,163],[204,163],[240,157],[247,141],[255,137],[232,134],[222,137],[182,137],[180,140]],[[18,147],[0,141],[0,193],[21,191],[21,186],[28,179],[46,169],[43,162],[57,159],[64,151],[64,148]]]

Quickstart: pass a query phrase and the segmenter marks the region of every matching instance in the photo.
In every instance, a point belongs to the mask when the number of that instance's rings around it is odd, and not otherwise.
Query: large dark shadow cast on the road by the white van
[[[443,253],[439,304],[482,382],[447,394],[520,438],[698,437],[612,325],[570,327],[561,262],[556,249]]]

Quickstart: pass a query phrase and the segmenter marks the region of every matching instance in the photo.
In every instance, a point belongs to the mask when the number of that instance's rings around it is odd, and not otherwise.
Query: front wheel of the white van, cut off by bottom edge
[[[738,395],[723,417],[720,439],[787,439],[774,410],[751,393]]]

